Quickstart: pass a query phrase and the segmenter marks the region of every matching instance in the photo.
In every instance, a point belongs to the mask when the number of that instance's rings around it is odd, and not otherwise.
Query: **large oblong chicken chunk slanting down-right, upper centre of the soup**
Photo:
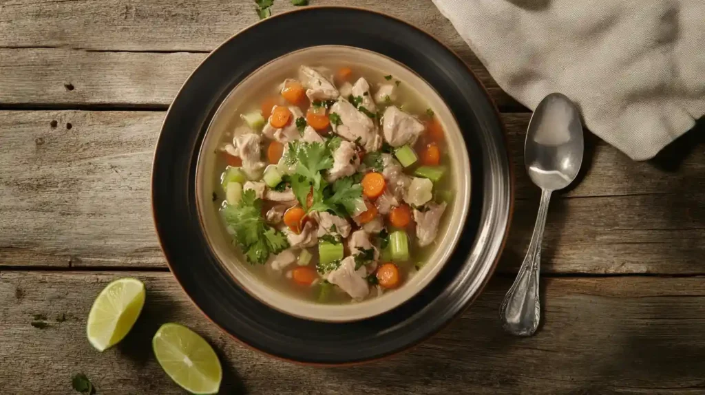
[[[331,123],[333,132],[350,142],[357,142],[365,151],[378,151],[382,146],[382,137],[379,135],[372,118],[364,115],[350,104],[350,101],[340,99],[330,108],[330,113],[336,113],[341,118],[341,124]]]

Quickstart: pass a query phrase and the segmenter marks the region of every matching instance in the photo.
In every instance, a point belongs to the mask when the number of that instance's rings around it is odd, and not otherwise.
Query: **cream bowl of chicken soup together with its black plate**
[[[247,52],[264,27],[321,13],[338,20],[329,35]],[[416,44],[353,39],[353,14]],[[503,143],[482,86],[428,35],[370,11],[287,13],[216,49],[173,102],[157,231],[185,291],[240,341],[300,362],[377,358],[489,278],[511,202]]]

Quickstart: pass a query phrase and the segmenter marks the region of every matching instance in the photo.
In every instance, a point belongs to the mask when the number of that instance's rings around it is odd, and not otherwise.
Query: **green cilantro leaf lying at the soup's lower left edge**
[[[270,254],[280,253],[289,246],[286,236],[262,218],[262,199],[257,199],[252,189],[243,192],[237,206],[223,206],[221,215],[233,230],[234,241],[243,249],[245,259],[253,265],[263,265]]]

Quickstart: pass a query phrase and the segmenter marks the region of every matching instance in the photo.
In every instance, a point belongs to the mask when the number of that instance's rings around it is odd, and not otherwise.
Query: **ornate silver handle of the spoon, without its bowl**
[[[531,336],[539,326],[539,268],[541,263],[541,239],[544,237],[548,202],[551,191],[541,191],[539,214],[534,226],[534,234],[529,243],[529,251],[524,258],[517,280],[507,292],[499,310],[502,327],[517,336]]]

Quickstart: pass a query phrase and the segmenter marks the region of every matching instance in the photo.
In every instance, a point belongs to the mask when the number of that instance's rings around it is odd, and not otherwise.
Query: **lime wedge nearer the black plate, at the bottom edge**
[[[152,349],[171,380],[192,394],[216,394],[223,378],[220,360],[210,344],[179,324],[161,325]]]

